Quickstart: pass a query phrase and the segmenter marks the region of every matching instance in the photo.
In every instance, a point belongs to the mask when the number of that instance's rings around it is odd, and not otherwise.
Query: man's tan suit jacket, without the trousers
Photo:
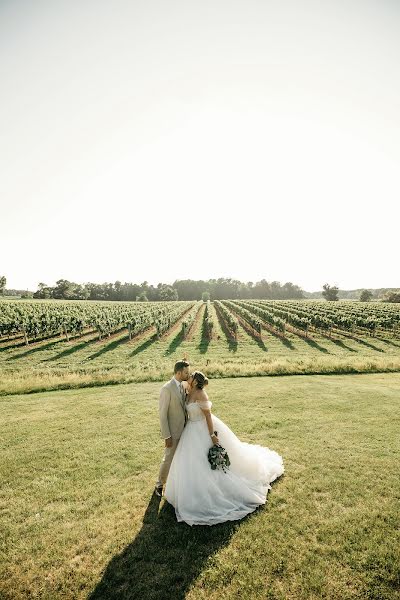
[[[181,398],[173,378],[161,388],[159,409],[161,436],[179,439],[186,423],[185,394]]]

